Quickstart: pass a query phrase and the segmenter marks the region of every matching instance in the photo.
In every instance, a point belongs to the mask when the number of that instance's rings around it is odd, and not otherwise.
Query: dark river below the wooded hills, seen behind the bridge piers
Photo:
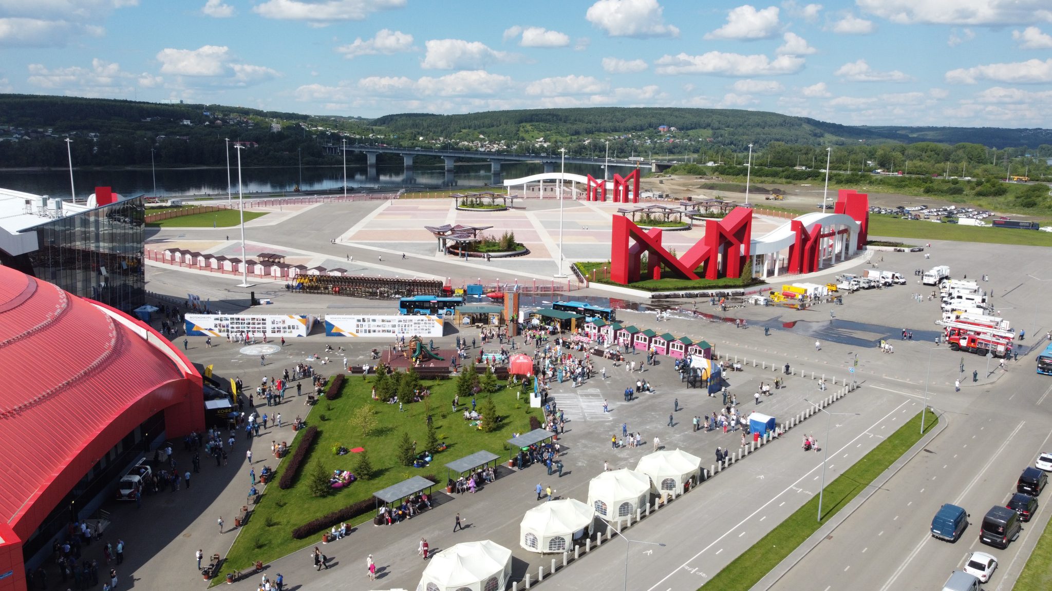
[[[544,171],[540,162],[505,163],[503,179],[517,179]],[[599,177],[603,167],[588,164],[567,164],[567,172]],[[156,175],[158,197],[182,197],[188,195],[226,195],[226,168],[149,168],[80,170],[74,168],[74,183],[77,197],[86,198],[96,186],[108,186],[126,197],[151,196]],[[297,185],[301,190],[335,189],[343,186],[342,166],[297,166],[258,167],[241,169],[245,192],[291,191]],[[301,183],[302,179],[302,183]],[[453,186],[480,187],[490,183],[492,177],[488,163],[457,164],[453,171]],[[443,187],[446,184],[445,168],[437,166],[416,166],[408,186]],[[391,187],[407,186],[402,166],[378,166],[377,179],[368,180],[365,166],[347,166],[347,186]],[[69,195],[69,170],[53,168],[47,170],[4,170],[0,169],[0,188],[25,191],[34,195],[67,197]],[[238,193],[238,170],[230,169],[230,190]]]

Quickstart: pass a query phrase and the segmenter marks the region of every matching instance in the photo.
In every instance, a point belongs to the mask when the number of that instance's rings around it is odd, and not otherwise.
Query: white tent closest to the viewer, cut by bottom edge
[[[488,539],[465,542],[434,554],[417,591],[504,591],[511,550]]]

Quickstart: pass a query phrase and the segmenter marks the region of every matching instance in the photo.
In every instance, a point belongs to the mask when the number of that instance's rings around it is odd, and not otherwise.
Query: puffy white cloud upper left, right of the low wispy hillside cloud
[[[182,85],[248,86],[280,76],[269,67],[237,61],[225,45],[203,45],[197,49],[164,48],[158,52],[161,74],[179,77]]]

